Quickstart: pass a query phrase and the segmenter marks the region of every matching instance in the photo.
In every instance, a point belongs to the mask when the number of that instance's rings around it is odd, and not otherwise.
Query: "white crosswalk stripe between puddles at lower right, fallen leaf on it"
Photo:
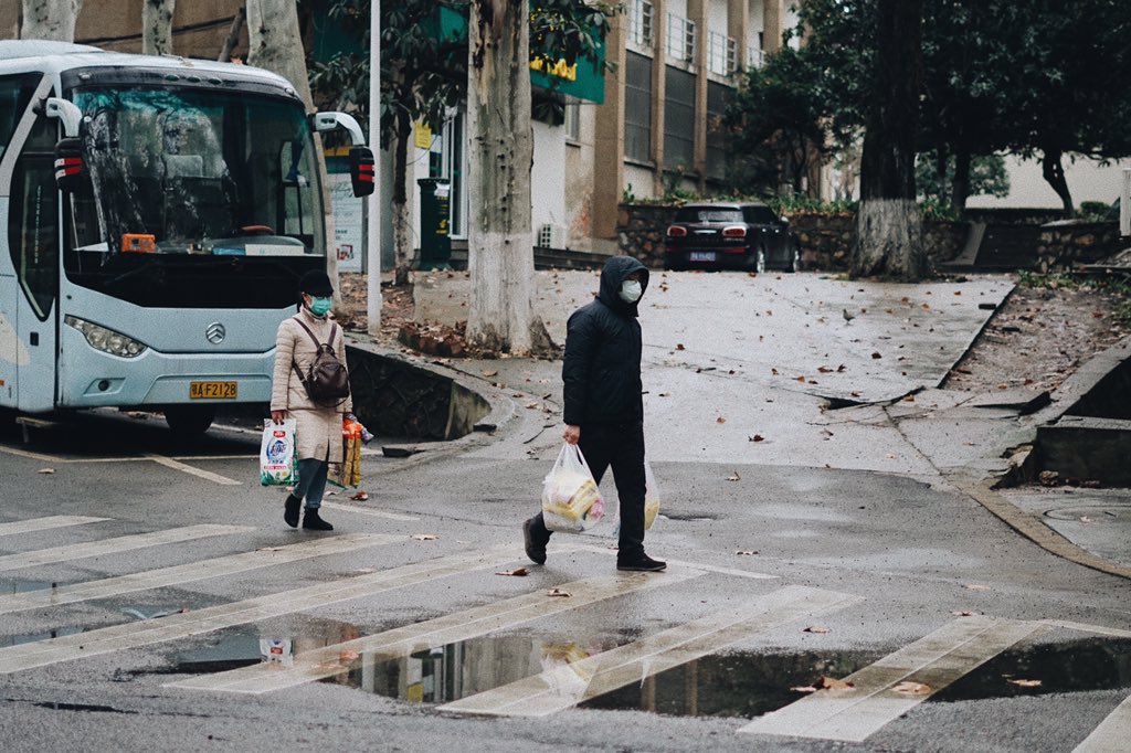
[[[1038,622],[961,617],[845,677],[853,687],[818,691],[739,732],[863,742],[962,675],[1048,629]],[[926,692],[895,690],[904,682],[926,685]]]

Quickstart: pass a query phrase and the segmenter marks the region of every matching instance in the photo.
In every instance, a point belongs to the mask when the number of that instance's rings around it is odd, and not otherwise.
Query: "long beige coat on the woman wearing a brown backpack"
[[[319,319],[302,306],[297,314],[319,343],[330,338],[330,318]],[[345,332],[342,326],[337,328],[334,338],[334,350],[338,360],[346,363]],[[294,317],[287,317],[279,324],[275,336],[275,374],[271,381],[271,410],[286,410],[295,419],[295,444],[299,459],[317,458],[330,462],[342,462],[342,415],[353,412],[353,395],[345,403],[334,408],[314,405],[307,396],[307,388],[294,373],[291,363],[297,363],[299,370],[307,373],[314,361],[318,348],[310,335],[299,326]],[[346,366],[348,369],[348,364]]]

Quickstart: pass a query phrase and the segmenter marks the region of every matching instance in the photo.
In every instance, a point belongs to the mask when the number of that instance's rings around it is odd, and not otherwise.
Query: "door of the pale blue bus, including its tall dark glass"
[[[41,101],[50,92],[50,79],[43,78],[32,98]],[[7,284],[5,312],[9,319],[15,312],[16,349],[26,354],[16,360],[16,406],[28,413],[55,407],[60,260],[57,140],[57,122],[28,106],[0,158],[0,194],[8,196],[7,227],[0,232],[15,271]]]

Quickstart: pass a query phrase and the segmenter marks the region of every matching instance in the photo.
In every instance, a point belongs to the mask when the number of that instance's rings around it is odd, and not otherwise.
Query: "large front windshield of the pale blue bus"
[[[69,197],[77,267],[129,252],[325,254],[299,102],[184,86],[80,87],[74,101],[89,178]]]

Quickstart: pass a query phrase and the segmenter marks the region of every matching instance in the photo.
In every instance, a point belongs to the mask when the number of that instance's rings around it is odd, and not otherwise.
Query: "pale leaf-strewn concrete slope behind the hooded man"
[[[537,272],[535,312],[556,343],[597,283],[597,272]],[[1129,516],[1065,522],[1056,516],[1069,505],[992,488],[1010,473],[1011,450],[1059,415],[1056,396],[1052,408],[1026,416],[1020,407],[1037,393],[1021,386],[1005,399],[1001,390],[939,389],[1012,288],[1007,276],[899,285],[655,271],[640,305],[648,457],[723,464],[746,476],[758,466],[909,476],[968,494],[1062,556],[1131,577]],[[465,320],[468,294],[464,272],[417,272],[416,318]],[[561,442],[560,361],[442,367],[513,404],[493,457],[552,460]],[[1108,491],[1104,504],[1119,510],[1128,499]]]

